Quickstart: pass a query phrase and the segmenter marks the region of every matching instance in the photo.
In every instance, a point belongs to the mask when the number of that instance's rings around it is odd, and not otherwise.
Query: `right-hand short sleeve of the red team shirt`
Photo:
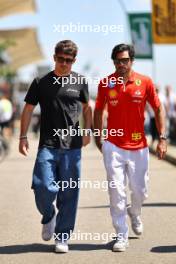
[[[154,111],[156,111],[161,104],[155,86],[151,79],[148,80],[147,85],[147,101]]]

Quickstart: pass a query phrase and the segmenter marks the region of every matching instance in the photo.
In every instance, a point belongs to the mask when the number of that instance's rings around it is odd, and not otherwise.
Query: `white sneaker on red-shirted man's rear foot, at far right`
[[[131,213],[131,207],[127,208],[128,215],[131,220],[131,227],[133,229],[133,232],[137,235],[140,236],[143,233],[143,224],[141,221],[140,216],[135,216]]]

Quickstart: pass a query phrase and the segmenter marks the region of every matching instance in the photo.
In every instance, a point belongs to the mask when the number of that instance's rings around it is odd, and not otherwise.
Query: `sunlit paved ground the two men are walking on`
[[[105,189],[81,189],[75,232],[91,233],[89,239],[70,242],[70,252],[53,253],[53,243],[40,237],[40,215],[30,190],[36,141],[31,140],[30,155],[17,152],[17,141],[10,156],[0,164],[0,263],[176,263],[176,167],[151,157],[150,198],[143,207],[145,232],[137,239],[130,232],[130,247],[124,253],[113,253],[105,235],[114,232]],[[105,180],[102,157],[91,145],[83,151],[84,180]],[[104,238],[98,239],[96,233]],[[90,236],[94,237],[91,241]]]

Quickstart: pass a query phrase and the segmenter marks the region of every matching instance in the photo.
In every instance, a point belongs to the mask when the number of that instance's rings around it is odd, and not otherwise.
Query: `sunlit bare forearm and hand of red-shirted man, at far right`
[[[155,122],[159,135],[166,134],[166,125],[165,125],[165,111],[162,104],[155,111]],[[157,145],[157,154],[159,159],[163,159],[167,151],[167,142],[166,139],[159,138]]]

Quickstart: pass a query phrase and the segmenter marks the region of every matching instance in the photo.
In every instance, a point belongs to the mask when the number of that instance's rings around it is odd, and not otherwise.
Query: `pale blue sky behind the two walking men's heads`
[[[151,11],[150,0],[121,0],[128,12]],[[127,17],[118,0],[36,0],[37,13],[19,14],[1,18],[0,29],[21,28],[33,26],[38,29],[39,41],[45,55],[41,64],[51,64],[53,48],[62,39],[72,39],[79,47],[77,62],[74,70],[83,72],[84,66],[89,63],[89,74],[106,76],[114,71],[110,59],[113,46],[121,42],[130,42]],[[123,25],[123,32],[65,33],[56,32],[54,25],[59,24],[86,24],[86,25]],[[27,52],[27,50],[26,50]],[[175,66],[176,45],[154,45],[154,63],[150,60],[136,60],[134,70],[151,76],[161,88],[171,84],[176,90]],[[175,58],[175,59],[174,59]],[[23,80],[30,80],[34,75],[33,65],[23,67],[19,76]],[[91,87],[91,90],[96,87]]]

